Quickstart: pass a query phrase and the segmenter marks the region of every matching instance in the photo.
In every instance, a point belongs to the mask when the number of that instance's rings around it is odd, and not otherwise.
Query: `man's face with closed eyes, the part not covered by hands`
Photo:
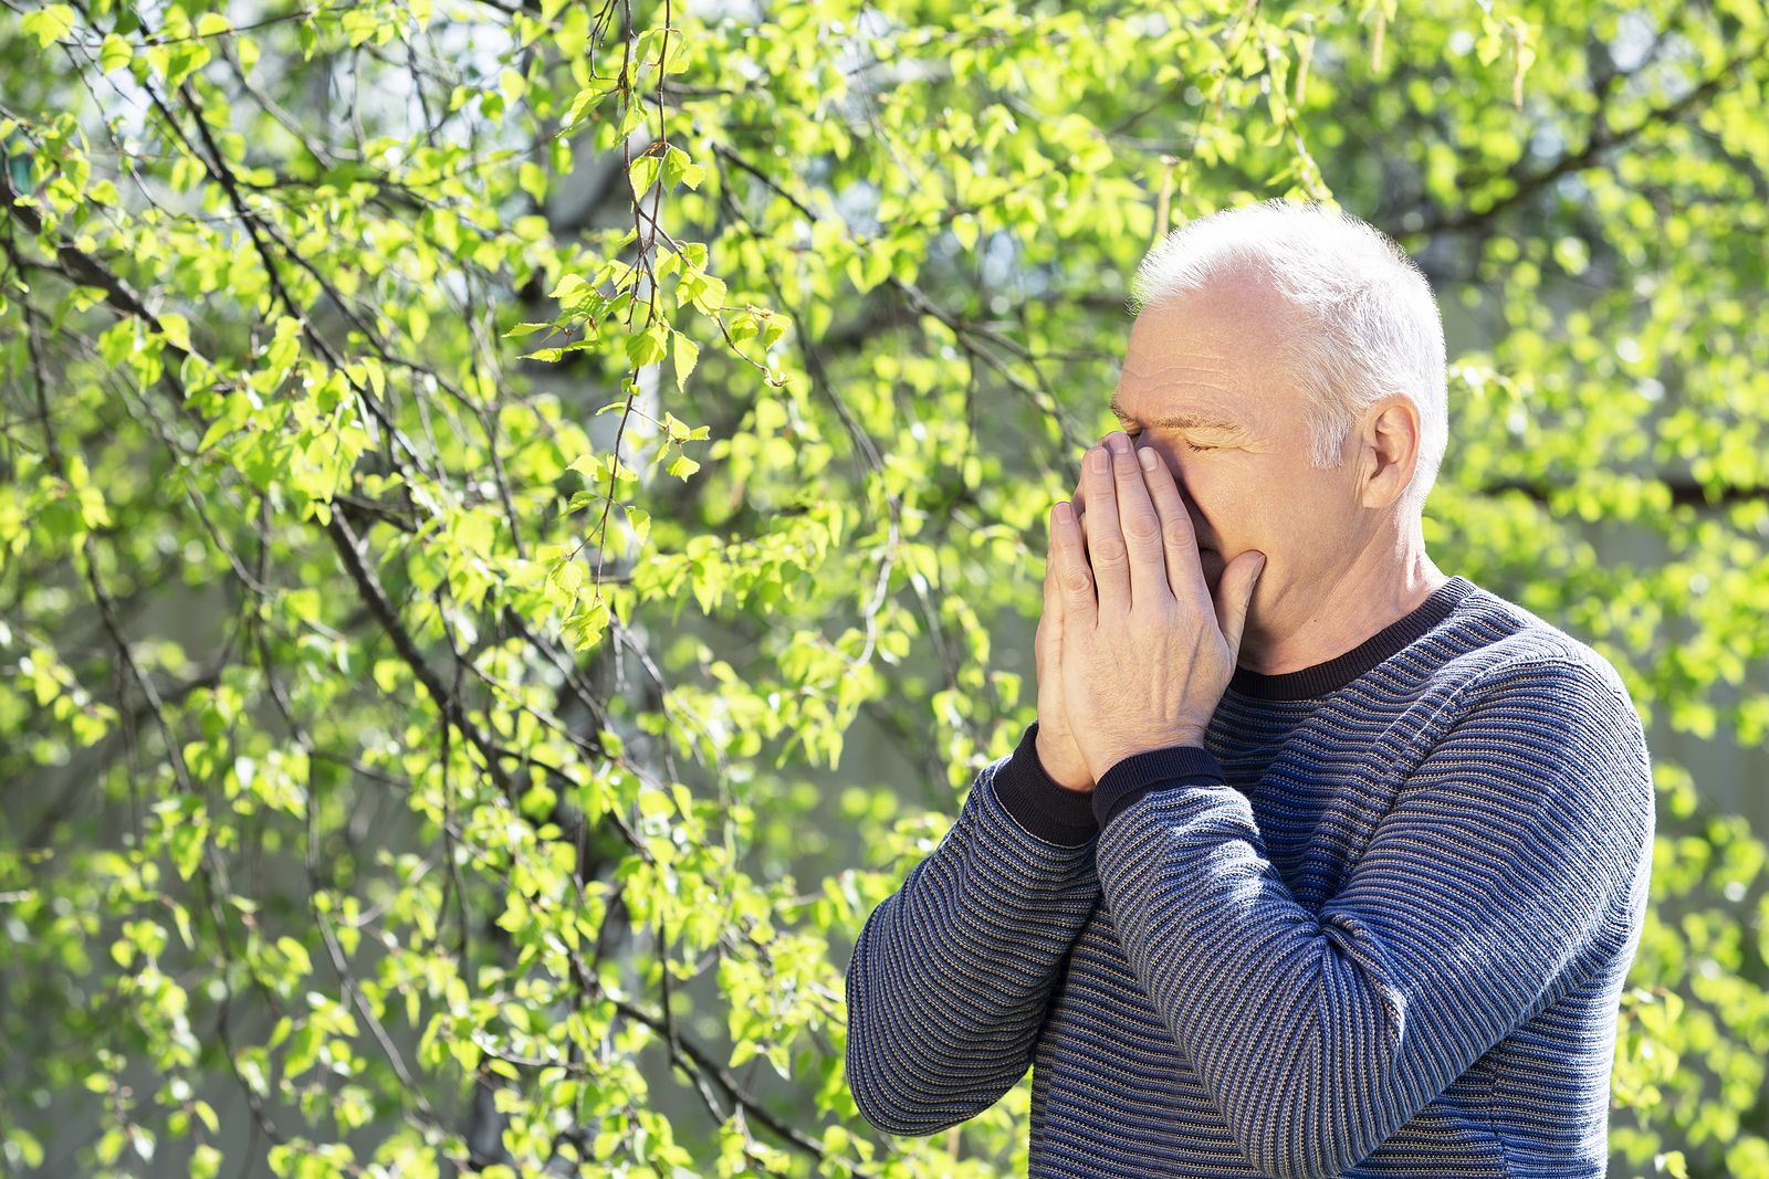
[[[1222,278],[1145,308],[1130,327],[1113,412],[1168,463],[1215,594],[1228,559],[1265,553],[1254,610],[1306,596],[1350,559],[1353,467],[1309,465],[1300,394],[1277,362],[1288,313],[1265,288]]]

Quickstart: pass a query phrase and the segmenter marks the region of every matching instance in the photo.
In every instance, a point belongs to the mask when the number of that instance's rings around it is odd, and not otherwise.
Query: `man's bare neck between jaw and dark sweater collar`
[[[1274,585],[1275,597],[1254,592],[1238,665],[1283,675],[1336,659],[1449,582],[1426,555],[1419,521],[1387,537],[1371,537],[1352,564]]]

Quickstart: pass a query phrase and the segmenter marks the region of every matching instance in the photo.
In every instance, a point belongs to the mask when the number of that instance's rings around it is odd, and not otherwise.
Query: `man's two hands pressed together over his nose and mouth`
[[[1265,567],[1240,553],[1214,599],[1173,472],[1153,451],[1143,470],[1123,431],[1106,444],[1083,460],[1086,536],[1070,504],[1051,509],[1063,704],[1093,781],[1134,753],[1203,741]]]

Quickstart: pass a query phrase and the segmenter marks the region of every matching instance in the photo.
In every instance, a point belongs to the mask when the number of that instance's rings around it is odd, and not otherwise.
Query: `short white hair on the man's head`
[[[1449,444],[1444,320],[1424,272],[1385,233],[1320,202],[1272,198],[1191,221],[1148,251],[1130,309],[1254,274],[1297,311],[1281,361],[1302,392],[1309,463],[1337,467],[1344,440],[1378,398],[1419,407],[1419,458],[1401,507],[1424,513]]]

